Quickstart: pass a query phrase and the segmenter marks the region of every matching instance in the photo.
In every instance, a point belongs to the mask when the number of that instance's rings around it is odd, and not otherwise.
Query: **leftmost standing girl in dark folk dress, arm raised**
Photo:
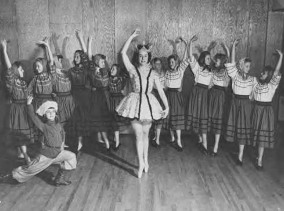
[[[11,65],[7,54],[7,41],[2,40],[4,61],[7,66],[6,87],[10,94],[11,106],[9,110],[9,133],[16,139],[17,155],[30,163],[26,144],[33,142],[33,131],[27,110],[28,87],[24,81],[24,70],[20,62]]]

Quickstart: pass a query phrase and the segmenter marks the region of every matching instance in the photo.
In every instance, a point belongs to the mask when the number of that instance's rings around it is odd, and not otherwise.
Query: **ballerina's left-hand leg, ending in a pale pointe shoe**
[[[133,130],[135,132],[135,138],[136,138],[136,149],[137,149],[137,155],[138,155],[138,162],[139,162],[139,169],[137,172],[138,178],[141,178],[143,170],[144,170],[144,159],[143,159],[143,128],[140,123],[132,122],[131,123]]]

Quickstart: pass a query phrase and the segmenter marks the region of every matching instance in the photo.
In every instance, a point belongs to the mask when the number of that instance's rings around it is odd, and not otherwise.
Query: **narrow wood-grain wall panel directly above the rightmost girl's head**
[[[248,56],[252,59],[251,73],[257,75],[265,63],[265,46],[269,0],[250,1]]]

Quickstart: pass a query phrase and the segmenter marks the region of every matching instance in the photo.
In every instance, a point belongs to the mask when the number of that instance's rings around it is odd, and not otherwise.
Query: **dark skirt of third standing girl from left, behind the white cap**
[[[56,93],[54,101],[58,104],[58,116],[60,123],[67,122],[75,109],[75,101],[70,92]]]

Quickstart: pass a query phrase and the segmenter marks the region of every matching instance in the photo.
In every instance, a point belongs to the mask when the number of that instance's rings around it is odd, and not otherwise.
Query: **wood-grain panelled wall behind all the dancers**
[[[224,52],[221,42],[231,45],[239,37],[237,59],[249,56],[252,73],[267,64],[275,66],[274,48],[283,45],[284,14],[271,11],[272,0],[0,0],[0,39],[9,39],[11,61],[24,61],[27,78],[32,62],[44,56],[36,41],[50,36],[52,50],[72,66],[74,51],[80,48],[75,29],[84,40],[92,35],[93,54],[103,53],[107,62],[121,62],[120,50],[133,29],[142,34],[135,42],[153,43],[153,56],[180,57],[184,47],[174,43],[178,36],[189,39],[199,34],[194,53],[199,56],[216,42],[212,54]],[[133,54],[133,47],[128,51]],[[1,74],[4,71],[0,61]],[[190,78],[190,73],[185,78]],[[1,127],[1,126],[0,126]]]

